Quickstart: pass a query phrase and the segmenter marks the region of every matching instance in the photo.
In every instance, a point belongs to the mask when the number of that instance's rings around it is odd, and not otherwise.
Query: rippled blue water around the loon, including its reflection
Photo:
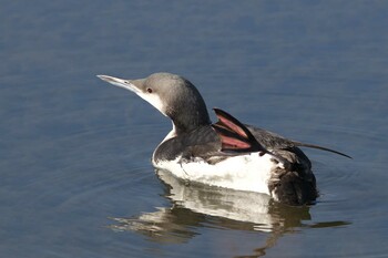
[[[358,0],[2,1],[0,256],[387,257],[387,13]],[[190,79],[208,109],[354,159],[306,149],[312,207],[167,186],[150,157],[170,121],[95,78],[159,71]]]

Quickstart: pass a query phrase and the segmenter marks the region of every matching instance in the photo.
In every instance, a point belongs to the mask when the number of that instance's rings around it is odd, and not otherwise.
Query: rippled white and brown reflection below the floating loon
[[[286,233],[298,228],[345,226],[347,221],[309,224],[309,206],[293,207],[273,202],[268,195],[238,192],[205,185],[187,185],[166,171],[156,171],[165,184],[164,196],[171,207],[157,207],[131,218],[112,218],[116,231],[136,231],[157,242],[181,244],[197,235],[198,227],[252,230],[268,234],[265,245],[255,250],[265,254]]]

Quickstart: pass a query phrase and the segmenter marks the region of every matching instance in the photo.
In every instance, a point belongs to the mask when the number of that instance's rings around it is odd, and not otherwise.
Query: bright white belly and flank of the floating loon
[[[186,161],[177,157],[175,161],[160,161],[154,163],[154,166],[166,169],[184,180],[269,195],[270,173],[277,166],[282,166],[270,158],[268,154],[259,156],[258,153],[251,153],[208,164],[202,158]]]

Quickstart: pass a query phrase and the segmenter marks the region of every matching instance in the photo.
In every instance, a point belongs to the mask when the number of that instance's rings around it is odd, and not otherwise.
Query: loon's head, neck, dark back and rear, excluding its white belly
[[[190,81],[175,74],[155,73],[140,80],[108,75],[99,78],[133,91],[172,120],[173,131],[155,149],[154,165],[178,157],[178,163],[195,163],[200,158],[210,165],[216,165],[239,155],[266,155],[274,164],[283,164],[273,166],[266,182],[267,193],[278,202],[303,205],[314,203],[318,192],[312,163],[299,146],[347,156],[337,151],[290,141],[272,132],[245,125],[218,109],[215,109],[218,122],[212,124],[200,92]]]

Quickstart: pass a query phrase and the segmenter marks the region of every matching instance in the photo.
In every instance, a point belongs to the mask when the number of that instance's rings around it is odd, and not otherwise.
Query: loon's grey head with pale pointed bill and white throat
[[[200,92],[190,81],[180,75],[154,73],[137,80],[109,75],[98,75],[98,78],[136,93],[173,121],[176,134],[211,124],[206,104]]]

